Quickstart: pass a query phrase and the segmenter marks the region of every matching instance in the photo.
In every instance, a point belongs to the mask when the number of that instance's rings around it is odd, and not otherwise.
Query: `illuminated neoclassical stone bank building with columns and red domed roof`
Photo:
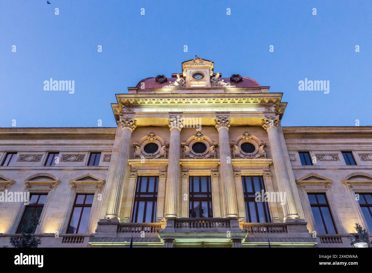
[[[351,247],[372,127],[282,127],[281,98],[196,57],[117,94],[115,128],[1,128],[0,246],[36,215],[43,247]]]

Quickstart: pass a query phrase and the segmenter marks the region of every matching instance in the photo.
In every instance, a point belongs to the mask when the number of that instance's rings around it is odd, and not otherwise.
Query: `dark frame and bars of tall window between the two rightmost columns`
[[[248,181],[248,182],[251,182],[252,189],[254,190],[254,180],[253,180],[254,177],[259,178],[260,192],[262,190],[263,190],[263,192],[266,192],[265,183],[264,183],[264,179],[263,179],[262,175],[242,175],[241,176],[241,184],[242,184],[242,188],[243,188],[244,209],[245,209],[245,212],[246,212],[245,216],[246,216],[246,220],[247,220],[248,223],[252,223],[251,222],[250,209],[249,209],[249,202],[252,202],[252,201],[254,201],[254,208],[255,208],[257,220],[260,221],[258,206],[257,206],[257,202],[256,202],[257,195],[255,195],[256,192],[248,192],[247,191],[247,185],[246,185],[247,179],[250,178],[250,181]],[[263,204],[264,217],[265,217],[265,222],[264,223],[270,223],[271,222],[271,217],[270,217],[269,205],[267,204],[268,202],[261,202],[261,203],[264,203]],[[261,222],[258,222],[258,223],[261,223]]]

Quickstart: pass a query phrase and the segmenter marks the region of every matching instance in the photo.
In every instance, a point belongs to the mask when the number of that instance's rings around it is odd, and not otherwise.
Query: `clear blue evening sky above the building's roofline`
[[[115,126],[115,94],[195,55],[283,92],[283,126],[372,125],[371,1],[50,2],[0,1],[0,127]],[[49,78],[75,93],[44,91]],[[329,94],[299,91],[305,78]]]

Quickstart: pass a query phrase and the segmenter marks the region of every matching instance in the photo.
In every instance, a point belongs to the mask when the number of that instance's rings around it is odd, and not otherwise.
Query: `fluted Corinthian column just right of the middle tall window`
[[[237,217],[238,205],[229,140],[230,117],[216,117],[214,121],[219,137],[219,156],[221,161],[220,179],[222,179],[224,190],[225,217]]]

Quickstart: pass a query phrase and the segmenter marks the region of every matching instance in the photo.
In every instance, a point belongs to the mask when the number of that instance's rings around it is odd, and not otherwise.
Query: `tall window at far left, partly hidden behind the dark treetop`
[[[36,215],[36,218],[38,220],[40,219],[40,215],[41,215],[41,212],[43,211],[46,200],[47,200],[47,194],[31,194],[30,195],[30,204],[26,205],[25,211],[23,212],[23,215],[18,225],[16,233],[21,233],[22,227],[26,227],[34,215]],[[32,233],[35,233],[35,230],[33,230]]]

